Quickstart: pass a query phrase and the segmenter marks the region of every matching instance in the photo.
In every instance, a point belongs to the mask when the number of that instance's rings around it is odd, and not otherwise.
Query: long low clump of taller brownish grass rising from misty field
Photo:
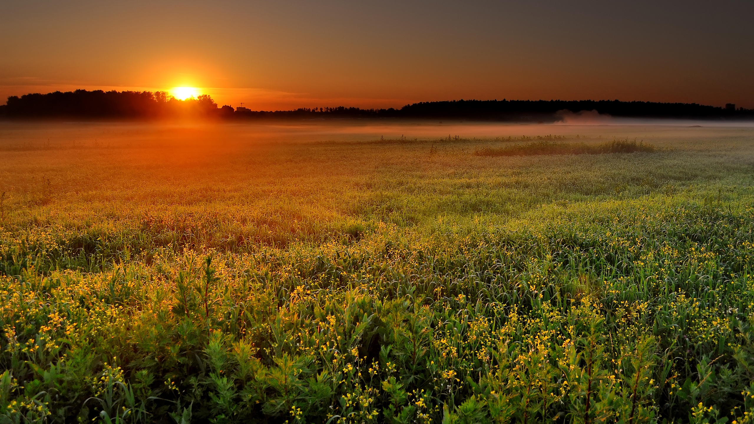
[[[539,140],[526,144],[512,144],[501,148],[484,147],[474,151],[477,156],[532,156],[532,155],[599,155],[600,153],[654,152],[654,146],[636,140],[612,140],[599,144],[559,143]]]

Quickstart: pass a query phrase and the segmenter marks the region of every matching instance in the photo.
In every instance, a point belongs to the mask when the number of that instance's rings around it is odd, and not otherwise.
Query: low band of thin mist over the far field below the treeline
[[[461,120],[402,121],[339,119],[311,121],[192,122],[14,122],[0,121],[0,148],[107,146],[133,143],[156,146],[224,143],[308,143],[371,140],[503,139],[558,135],[589,139],[699,139],[754,134],[754,121],[691,121],[615,118],[596,112],[563,113],[556,123]]]

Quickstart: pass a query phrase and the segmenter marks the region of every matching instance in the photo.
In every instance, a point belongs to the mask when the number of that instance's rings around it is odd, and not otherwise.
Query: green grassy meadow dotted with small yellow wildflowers
[[[370,125],[0,123],[0,422],[754,421],[754,128]]]

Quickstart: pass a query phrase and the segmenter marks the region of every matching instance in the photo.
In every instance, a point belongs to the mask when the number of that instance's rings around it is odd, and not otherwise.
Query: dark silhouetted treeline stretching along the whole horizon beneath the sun
[[[164,91],[86,91],[25,94],[8,97],[0,116],[9,118],[463,118],[479,120],[554,121],[556,113],[596,110],[600,114],[637,118],[752,118],[754,109],[697,103],[621,102],[619,100],[452,100],[421,102],[400,109],[314,107],[285,111],[253,111],[218,107],[208,95],[177,100]]]

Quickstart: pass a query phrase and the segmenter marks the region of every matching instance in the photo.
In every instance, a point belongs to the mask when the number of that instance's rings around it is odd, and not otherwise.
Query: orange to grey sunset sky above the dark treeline
[[[0,0],[0,98],[189,85],[251,109],[754,107],[754,2]]]

